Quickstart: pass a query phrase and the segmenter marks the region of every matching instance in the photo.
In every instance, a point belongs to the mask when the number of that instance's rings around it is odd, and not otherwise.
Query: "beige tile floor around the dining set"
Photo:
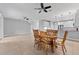
[[[0,55],[45,55],[33,46],[34,38],[30,35],[5,37],[0,40]],[[66,41],[66,55],[79,55],[79,42]],[[49,55],[62,55],[61,48]]]

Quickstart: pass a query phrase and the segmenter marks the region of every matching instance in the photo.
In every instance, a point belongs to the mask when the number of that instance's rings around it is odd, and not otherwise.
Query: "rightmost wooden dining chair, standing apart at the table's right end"
[[[65,42],[67,40],[67,35],[68,35],[68,31],[65,31],[64,32],[64,37],[59,38],[59,39],[57,38],[57,41],[56,41],[57,48],[58,48],[58,46],[61,46],[62,52],[63,52],[64,55],[65,55],[65,52],[67,52],[66,47],[65,47]]]

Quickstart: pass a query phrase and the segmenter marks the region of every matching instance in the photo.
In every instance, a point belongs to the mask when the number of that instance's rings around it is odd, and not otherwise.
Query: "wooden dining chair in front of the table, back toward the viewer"
[[[45,31],[40,31],[40,43],[39,43],[39,48],[40,50],[43,50],[46,54],[48,54],[48,38],[47,38],[47,32]]]

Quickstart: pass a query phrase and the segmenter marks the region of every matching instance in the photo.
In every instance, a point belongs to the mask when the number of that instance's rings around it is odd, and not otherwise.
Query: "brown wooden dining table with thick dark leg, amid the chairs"
[[[51,51],[54,52],[56,47],[57,36],[51,36],[51,35],[39,35],[39,36],[40,38],[47,38],[47,40],[50,39],[48,44],[51,46]]]

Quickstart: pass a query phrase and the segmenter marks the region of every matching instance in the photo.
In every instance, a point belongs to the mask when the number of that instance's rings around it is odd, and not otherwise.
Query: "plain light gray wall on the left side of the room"
[[[31,33],[29,23],[11,18],[4,18],[4,36]]]

